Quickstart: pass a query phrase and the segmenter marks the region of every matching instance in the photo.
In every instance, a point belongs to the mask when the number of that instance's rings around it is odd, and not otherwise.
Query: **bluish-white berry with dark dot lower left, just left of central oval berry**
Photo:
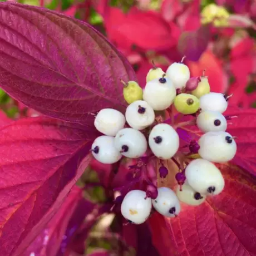
[[[138,158],[145,154],[147,141],[145,136],[138,130],[125,128],[117,132],[114,144],[122,155],[129,158]]]

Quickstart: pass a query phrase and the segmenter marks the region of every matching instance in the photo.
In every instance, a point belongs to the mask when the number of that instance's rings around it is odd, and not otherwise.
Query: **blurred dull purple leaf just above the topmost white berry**
[[[202,26],[196,31],[183,32],[180,36],[178,49],[191,61],[198,61],[206,50],[210,40],[210,27]]]

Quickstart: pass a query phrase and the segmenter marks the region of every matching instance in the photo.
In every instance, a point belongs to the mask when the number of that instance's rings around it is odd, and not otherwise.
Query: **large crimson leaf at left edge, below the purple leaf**
[[[0,255],[20,255],[45,227],[88,165],[94,137],[42,117],[0,129]]]

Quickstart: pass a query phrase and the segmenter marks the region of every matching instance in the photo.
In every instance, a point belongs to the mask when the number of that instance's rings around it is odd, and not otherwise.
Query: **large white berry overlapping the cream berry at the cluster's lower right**
[[[186,166],[186,181],[198,193],[218,195],[225,181],[220,170],[208,160],[195,159]]]

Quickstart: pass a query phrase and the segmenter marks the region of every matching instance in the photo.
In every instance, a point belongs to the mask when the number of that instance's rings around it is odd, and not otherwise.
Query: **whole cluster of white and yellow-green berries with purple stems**
[[[114,109],[102,109],[96,115],[95,127],[104,135],[92,144],[95,159],[104,164],[117,163],[121,157],[137,159],[137,164],[130,166],[135,169],[134,177],[158,161],[162,163],[160,177],[165,178],[169,170],[163,160],[172,160],[180,168],[175,158],[178,154],[184,156],[186,165],[175,176],[178,183],[175,192],[170,188],[156,188],[153,185],[156,180],[150,180],[145,173],[141,175],[147,184],[146,191],[135,189],[124,193],[121,203],[124,218],[141,224],[149,217],[152,205],[160,214],[174,217],[180,213],[180,201],[200,205],[206,196],[221,193],[224,178],[214,163],[232,160],[237,151],[234,137],[226,132],[231,117],[222,114],[227,110],[230,96],[210,92],[204,72],[201,77],[190,78],[183,60],[170,65],[166,73],[154,65],[147,73],[144,90],[135,81],[122,83],[129,106],[125,115]],[[156,112],[171,112],[171,105],[179,115],[194,117],[189,124],[197,125],[204,133],[198,142],[191,140],[188,145],[190,152],[198,153],[201,158],[192,161],[186,158],[184,147],[180,149],[177,126],[171,126],[169,119],[163,121]],[[156,173],[155,166],[153,170]]]

